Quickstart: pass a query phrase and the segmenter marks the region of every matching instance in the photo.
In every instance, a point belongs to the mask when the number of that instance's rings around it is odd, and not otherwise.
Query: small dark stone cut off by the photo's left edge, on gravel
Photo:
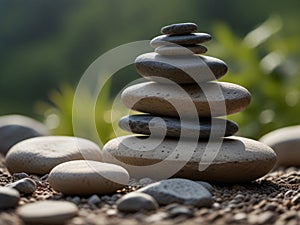
[[[9,187],[0,187],[0,209],[16,207],[20,199],[17,190]]]

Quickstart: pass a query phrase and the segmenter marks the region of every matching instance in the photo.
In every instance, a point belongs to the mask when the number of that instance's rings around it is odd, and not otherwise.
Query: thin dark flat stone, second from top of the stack
[[[150,45],[156,48],[161,45],[168,45],[175,43],[178,45],[195,45],[201,44],[211,40],[210,34],[207,33],[193,33],[183,35],[160,35],[150,41]]]

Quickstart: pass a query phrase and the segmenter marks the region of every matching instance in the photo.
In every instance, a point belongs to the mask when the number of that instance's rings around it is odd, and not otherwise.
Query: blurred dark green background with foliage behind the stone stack
[[[164,25],[195,22],[213,36],[207,54],[230,68],[222,80],[252,93],[249,108],[229,118],[240,135],[259,138],[300,123],[299,12],[299,0],[0,0],[0,114],[28,115],[72,134],[74,89],[97,57],[151,39]],[[124,68],[101,94],[104,142],[114,136],[107,118],[114,95],[137,78],[133,65]]]

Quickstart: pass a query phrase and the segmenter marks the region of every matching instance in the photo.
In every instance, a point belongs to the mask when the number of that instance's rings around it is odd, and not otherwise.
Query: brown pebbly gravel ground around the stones
[[[16,178],[9,175],[0,158],[0,186]],[[63,196],[54,192],[46,177],[30,176],[37,182],[33,195],[22,195],[19,205],[44,199],[73,201],[79,206],[77,217],[68,225],[100,224],[300,224],[300,168],[278,168],[265,177],[243,185],[214,185],[211,208],[190,208],[184,215],[171,214],[176,205],[161,207],[156,212],[124,214],[115,202],[123,194],[139,187],[128,186],[112,195],[99,196],[99,203],[89,203],[90,196]],[[95,197],[95,196],[94,196]],[[23,224],[14,209],[0,211],[1,225]]]

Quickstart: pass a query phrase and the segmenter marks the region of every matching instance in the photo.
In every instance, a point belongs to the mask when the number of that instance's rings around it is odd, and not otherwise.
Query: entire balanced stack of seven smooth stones
[[[275,164],[270,147],[232,136],[237,124],[217,118],[244,110],[251,96],[241,86],[215,81],[227,65],[202,55],[211,36],[197,29],[194,23],[163,27],[150,42],[155,52],[135,61],[150,81],[126,88],[121,98],[148,114],[123,117],[119,126],[137,135],[115,138],[103,149],[104,160],[122,165],[131,177],[247,182]]]

